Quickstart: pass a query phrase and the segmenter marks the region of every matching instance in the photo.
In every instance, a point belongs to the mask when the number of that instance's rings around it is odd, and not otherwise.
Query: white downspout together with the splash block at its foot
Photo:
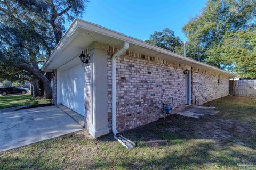
[[[116,129],[116,58],[122,55],[129,48],[129,43],[124,42],[123,48],[121,48],[118,52],[116,52],[111,58],[111,78],[112,78],[112,132],[114,134],[114,138],[120,142],[127,149],[132,149],[136,145],[134,142],[126,139]]]

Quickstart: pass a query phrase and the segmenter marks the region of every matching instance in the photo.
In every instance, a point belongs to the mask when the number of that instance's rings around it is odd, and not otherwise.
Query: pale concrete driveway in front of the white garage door
[[[82,130],[65,112],[56,106],[0,110],[0,151]]]

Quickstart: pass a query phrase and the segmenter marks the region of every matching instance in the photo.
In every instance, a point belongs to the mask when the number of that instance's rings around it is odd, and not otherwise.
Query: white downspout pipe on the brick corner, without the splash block
[[[124,42],[123,48],[116,52],[111,58],[111,77],[112,77],[112,132],[114,135],[118,135],[119,132],[116,129],[116,58],[126,52],[129,48],[129,43]]]

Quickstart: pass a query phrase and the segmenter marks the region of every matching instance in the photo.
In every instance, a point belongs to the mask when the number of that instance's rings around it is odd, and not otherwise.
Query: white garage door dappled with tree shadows
[[[60,72],[60,101],[84,116],[84,70],[81,63]]]

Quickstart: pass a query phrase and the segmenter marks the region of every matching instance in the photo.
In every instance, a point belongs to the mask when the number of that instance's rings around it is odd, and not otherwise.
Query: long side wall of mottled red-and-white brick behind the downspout
[[[108,52],[108,125],[111,128],[111,55]],[[173,113],[185,109],[185,65],[127,51],[117,58],[117,129],[122,132],[163,117],[162,103],[171,103]],[[228,95],[228,77],[192,69],[192,103]],[[196,100],[193,98],[196,96]]]

